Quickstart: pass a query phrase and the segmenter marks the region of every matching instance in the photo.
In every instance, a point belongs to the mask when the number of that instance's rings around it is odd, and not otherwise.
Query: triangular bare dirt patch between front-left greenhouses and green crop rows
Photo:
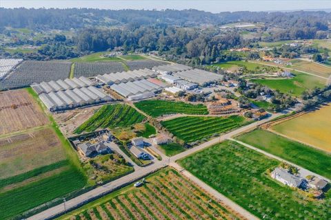
[[[64,113],[54,114],[53,118],[59,124],[61,132],[66,137],[70,137],[74,133],[74,129],[86,120],[88,120],[92,115],[100,109],[101,106],[88,107],[84,109],[74,109],[71,111],[66,111]]]

